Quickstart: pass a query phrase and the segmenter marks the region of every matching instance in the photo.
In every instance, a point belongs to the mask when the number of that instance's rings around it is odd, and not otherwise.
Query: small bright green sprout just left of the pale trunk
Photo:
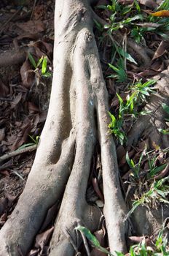
[[[36,74],[42,75],[42,77],[48,78],[51,76],[50,72],[47,72],[47,56],[42,56],[39,61],[35,61],[34,57],[31,53],[28,53],[28,59],[31,62],[32,66],[34,67],[34,72]],[[40,69],[39,69],[40,68]]]

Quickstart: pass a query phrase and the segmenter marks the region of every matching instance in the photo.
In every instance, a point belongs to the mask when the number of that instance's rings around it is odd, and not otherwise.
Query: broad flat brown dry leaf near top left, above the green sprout
[[[45,30],[44,23],[41,20],[28,20],[25,23],[17,23],[17,26],[30,34],[37,34]]]

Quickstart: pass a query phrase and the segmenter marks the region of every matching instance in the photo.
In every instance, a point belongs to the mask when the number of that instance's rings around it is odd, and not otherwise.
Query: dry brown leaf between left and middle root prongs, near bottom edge
[[[36,248],[41,248],[42,251],[44,249],[44,246],[50,241],[50,237],[52,236],[54,227],[50,227],[50,229],[44,231],[43,233],[39,234],[36,236],[36,243],[35,247]]]

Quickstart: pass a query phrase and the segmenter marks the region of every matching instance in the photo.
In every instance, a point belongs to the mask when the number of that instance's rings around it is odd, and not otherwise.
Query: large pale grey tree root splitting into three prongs
[[[108,135],[108,95],[92,28],[86,0],[56,1],[50,107],[23,194],[0,231],[2,256],[19,256],[19,251],[26,255],[47,210],[62,195],[50,255],[74,255],[71,241],[76,248],[82,241],[76,225],[97,229],[100,211],[85,200],[96,140],[101,146],[109,246],[111,252],[126,250],[125,203],[114,141]]]

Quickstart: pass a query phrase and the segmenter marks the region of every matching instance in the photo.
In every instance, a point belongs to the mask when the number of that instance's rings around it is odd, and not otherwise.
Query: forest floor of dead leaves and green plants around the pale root
[[[1,228],[23,192],[47,117],[55,1],[15,0],[9,4],[2,0],[0,8]],[[162,96],[160,102],[158,124],[152,122],[146,128],[146,123],[154,113],[153,97],[161,92],[163,95],[162,90],[167,96],[169,92],[169,4],[163,1],[162,5],[162,1],[154,0],[101,0],[93,10],[98,15],[94,17],[94,32],[109,91],[107,131],[112,133],[117,146],[122,190],[131,209],[127,217],[140,206],[154,208],[162,212],[158,224],[165,233],[169,228],[169,215],[165,216],[165,205],[169,203],[169,105],[166,97]],[[168,85],[162,82],[164,88],[161,89],[158,81],[162,79]],[[96,152],[86,197],[102,210],[99,148]],[[152,227],[152,233],[149,234],[150,230],[147,233],[149,236],[142,236],[146,230],[145,219],[138,219],[136,215],[128,244],[142,242],[143,245],[144,240],[153,252],[157,249],[155,240],[159,226],[156,225],[157,230]],[[54,222],[51,218],[47,220],[50,225],[46,230],[36,236],[29,256],[47,255]],[[95,236],[102,246],[107,246],[104,222]],[[167,244],[165,251],[169,253]],[[93,248],[91,255],[106,253]]]

